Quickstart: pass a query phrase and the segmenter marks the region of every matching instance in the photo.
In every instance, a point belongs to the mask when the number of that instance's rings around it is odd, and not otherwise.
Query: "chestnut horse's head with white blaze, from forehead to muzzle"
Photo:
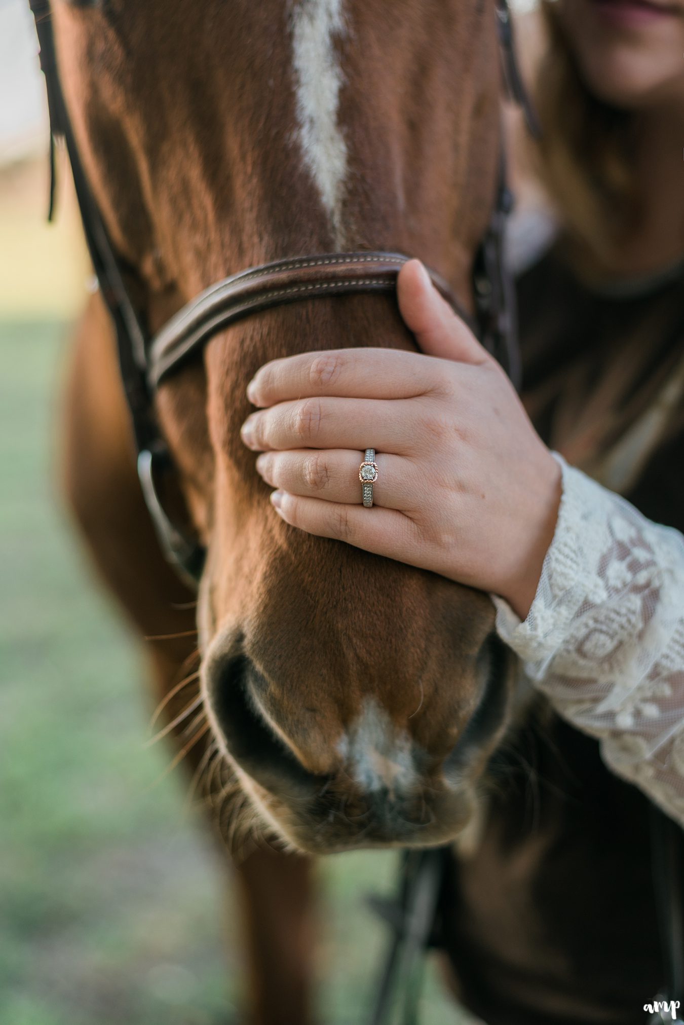
[[[52,0],[51,13],[83,165],[151,331],[228,274],[334,250],[419,256],[473,309],[500,170],[490,4]],[[263,311],[156,399],[207,550],[216,741],[262,818],[313,853],[455,836],[510,705],[486,596],[288,527],[240,439],[259,366],[358,345],[414,347],[391,297]],[[315,448],[310,413],[303,402]]]

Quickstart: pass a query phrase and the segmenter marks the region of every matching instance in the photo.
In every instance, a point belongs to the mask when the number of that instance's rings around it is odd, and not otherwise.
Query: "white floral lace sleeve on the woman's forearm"
[[[684,825],[684,536],[581,470],[563,494],[535,601],[503,599],[499,636],[610,769]]]

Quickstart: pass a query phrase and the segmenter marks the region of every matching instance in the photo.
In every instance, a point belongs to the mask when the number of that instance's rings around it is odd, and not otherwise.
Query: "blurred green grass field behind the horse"
[[[53,487],[68,327],[0,320],[0,1025],[218,1025],[239,937],[182,777],[144,750],[132,641]],[[362,1025],[385,933],[365,909],[394,857],[322,863],[320,1019]],[[228,921],[230,914],[228,913]],[[428,973],[424,1025],[460,1018]]]

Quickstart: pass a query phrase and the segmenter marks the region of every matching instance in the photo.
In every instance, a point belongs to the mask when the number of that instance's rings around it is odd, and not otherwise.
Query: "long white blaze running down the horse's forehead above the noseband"
[[[293,8],[297,121],[304,162],[341,245],[347,145],[338,124],[342,71],[334,39],[344,33],[343,0],[298,0]]]

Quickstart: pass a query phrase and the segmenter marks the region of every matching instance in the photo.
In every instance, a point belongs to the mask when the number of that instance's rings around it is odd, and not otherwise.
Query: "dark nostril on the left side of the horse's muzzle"
[[[209,704],[230,756],[249,776],[268,789],[293,784],[310,789],[313,777],[270,728],[254,700],[250,678],[257,673],[246,655],[216,666]]]

